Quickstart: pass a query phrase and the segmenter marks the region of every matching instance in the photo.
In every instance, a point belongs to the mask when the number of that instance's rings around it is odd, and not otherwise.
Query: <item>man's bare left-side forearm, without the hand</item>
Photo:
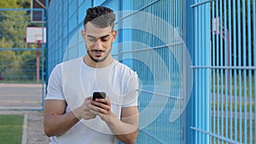
[[[44,116],[44,132],[48,136],[62,135],[79,122],[73,112],[63,115],[49,114]]]

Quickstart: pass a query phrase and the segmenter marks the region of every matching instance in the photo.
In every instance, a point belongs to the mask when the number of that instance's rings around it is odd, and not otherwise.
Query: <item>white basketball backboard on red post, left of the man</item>
[[[44,43],[46,43],[46,28],[26,27],[26,43],[42,43],[44,31]]]

